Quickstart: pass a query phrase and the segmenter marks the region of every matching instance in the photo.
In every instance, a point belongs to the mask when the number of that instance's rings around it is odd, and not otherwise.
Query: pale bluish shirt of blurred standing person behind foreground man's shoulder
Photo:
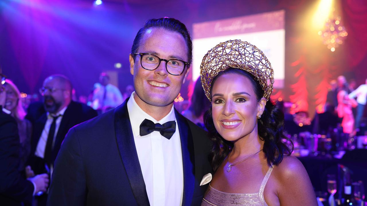
[[[103,100],[104,93],[106,92],[106,97]],[[112,84],[106,86],[101,86],[96,88],[93,92],[93,102],[92,107],[97,109],[102,109],[103,107],[117,107],[122,104],[123,97],[119,88]]]

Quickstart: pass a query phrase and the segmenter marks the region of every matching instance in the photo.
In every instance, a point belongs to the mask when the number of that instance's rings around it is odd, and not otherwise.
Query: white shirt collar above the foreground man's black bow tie
[[[168,121],[176,121],[174,107],[172,106],[170,113],[168,113],[161,120],[157,121],[155,118],[145,113],[139,105],[135,102],[134,99],[135,91],[131,93],[130,99],[127,101],[127,110],[130,117],[130,123],[132,132],[134,133],[134,137],[140,136],[140,124],[144,121],[144,119],[149,119],[150,121],[159,124],[164,124]]]

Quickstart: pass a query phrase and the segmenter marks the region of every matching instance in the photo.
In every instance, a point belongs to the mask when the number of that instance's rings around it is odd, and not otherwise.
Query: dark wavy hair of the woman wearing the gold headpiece
[[[211,85],[214,85],[215,80],[223,74],[239,74],[247,77],[252,83],[257,100],[260,101],[263,97],[264,90],[262,90],[259,82],[255,80],[252,74],[241,69],[229,68],[220,72],[214,78]],[[210,107],[204,115],[204,123],[208,129],[209,137],[213,142],[209,160],[215,171],[233,148],[233,142],[227,141],[219,135],[214,127],[211,112],[212,110]],[[259,138],[264,141],[262,151],[265,154],[269,166],[278,165],[283,160],[284,155],[290,155],[293,151],[293,143],[283,134],[283,129],[284,113],[269,99],[266,102],[264,113],[262,113],[261,118],[258,119],[258,134]],[[290,143],[291,147],[287,146],[287,141]]]

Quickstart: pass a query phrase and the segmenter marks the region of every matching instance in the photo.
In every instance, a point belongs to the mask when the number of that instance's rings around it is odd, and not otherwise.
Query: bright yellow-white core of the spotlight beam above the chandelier
[[[325,21],[330,15],[332,6],[333,0],[320,0],[317,10],[312,18],[312,24],[315,28],[320,29],[324,26]]]

